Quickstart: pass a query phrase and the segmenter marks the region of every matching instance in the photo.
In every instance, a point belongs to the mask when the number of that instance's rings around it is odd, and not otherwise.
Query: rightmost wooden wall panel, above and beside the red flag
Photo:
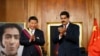
[[[93,20],[97,19],[97,23],[100,27],[100,0],[87,0],[87,19],[88,19],[88,42],[92,32]],[[88,43],[87,42],[87,43]]]

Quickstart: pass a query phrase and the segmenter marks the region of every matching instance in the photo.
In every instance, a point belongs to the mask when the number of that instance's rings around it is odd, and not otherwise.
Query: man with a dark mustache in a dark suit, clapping
[[[60,14],[62,25],[58,27],[53,38],[54,43],[59,43],[58,56],[80,56],[79,26],[69,21],[69,13],[62,11]]]

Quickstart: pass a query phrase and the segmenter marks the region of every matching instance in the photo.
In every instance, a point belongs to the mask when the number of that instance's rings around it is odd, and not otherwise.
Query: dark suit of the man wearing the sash
[[[34,35],[35,41],[30,43],[28,37],[23,32],[21,33],[20,44],[24,46],[22,56],[39,56],[34,45],[44,45],[44,34],[43,31],[36,29]]]

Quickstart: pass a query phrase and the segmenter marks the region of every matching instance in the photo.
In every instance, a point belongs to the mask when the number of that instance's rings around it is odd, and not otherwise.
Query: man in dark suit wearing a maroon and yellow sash
[[[32,16],[28,20],[27,28],[21,33],[20,44],[24,46],[22,56],[42,56],[40,46],[43,46],[44,34],[38,29],[38,19]]]

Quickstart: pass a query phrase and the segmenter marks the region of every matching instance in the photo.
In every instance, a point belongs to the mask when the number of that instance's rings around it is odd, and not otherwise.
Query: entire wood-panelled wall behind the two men
[[[60,22],[61,11],[69,11],[71,22],[82,22],[82,46],[87,48],[93,19],[100,26],[100,0],[0,0],[0,21],[26,22],[29,16],[39,18],[39,28],[45,33],[45,50],[47,50],[48,22]]]

